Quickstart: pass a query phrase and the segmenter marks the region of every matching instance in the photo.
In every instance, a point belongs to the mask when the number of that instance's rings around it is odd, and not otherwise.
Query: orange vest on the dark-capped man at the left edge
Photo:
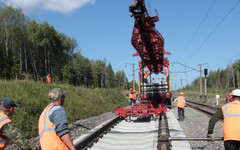
[[[7,124],[7,123],[10,123],[12,122],[7,115],[3,114],[0,112],[0,130],[2,132],[2,127]],[[0,149],[3,150],[7,147],[7,144],[9,142],[9,139],[8,138],[3,138],[3,137],[0,137]]]

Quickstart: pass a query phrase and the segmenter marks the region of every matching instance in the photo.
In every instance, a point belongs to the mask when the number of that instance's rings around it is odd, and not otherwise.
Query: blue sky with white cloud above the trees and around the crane
[[[132,63],[139,57],[131,45],[134,0],[0,0],[21,7],[38,23],[47,21],[78,41],[81,54],[111,63],[132,80]],[[170,61],[172,89],[190,84],[202,68],[225,69],[240,55],[240,0],[145,0],[150,16],[159,13],[156,29],[165,39]],[[176,62],[176,63],[174,63]],[[186,72],[186,73],[177,73]],[[135,72],[137,73],[137,71]],[[162,75],[153,75],[162,77]],[[135,75],[135,78],[137,76]]]

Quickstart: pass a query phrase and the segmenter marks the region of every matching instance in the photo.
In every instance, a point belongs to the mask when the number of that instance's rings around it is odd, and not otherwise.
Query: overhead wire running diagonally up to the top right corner
[[[200,46],[196,49],[196,51],[192,54],[192,56],[188,59],[188,61],[199,51],[199,49],[207,42],[210,36],[217,30],[217,28],[223,23],[223,21],[229,16],[229,14],[233,11],[233,9],[239,4],[240,0],[231,8],[231,10],[223,17],[223,19],[215,26],[212,32],[206,37],[206,39],[200,44]]]

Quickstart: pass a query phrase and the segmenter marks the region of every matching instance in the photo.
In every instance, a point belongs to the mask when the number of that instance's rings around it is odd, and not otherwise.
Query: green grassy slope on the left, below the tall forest
[[[64,103],[69,123],[128,105],[119,89],[94,90],[34,81],[0,80],[0,98],[10,97],[19,105],[11,119],[27,138],[38,136],[38,118],[49,104],[49,91],[56,87],[70,92]]]

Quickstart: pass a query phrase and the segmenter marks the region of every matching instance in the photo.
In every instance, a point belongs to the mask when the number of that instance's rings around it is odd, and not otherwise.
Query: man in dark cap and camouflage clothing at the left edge
[[[8,118],[13,115],[15,107],[18,107],[18,105],[11,98],[6,97],[0,101],[0,150],[7,147],[9,140],[21,149],[35,149],[27,143],[27,139],[21,131]]]

